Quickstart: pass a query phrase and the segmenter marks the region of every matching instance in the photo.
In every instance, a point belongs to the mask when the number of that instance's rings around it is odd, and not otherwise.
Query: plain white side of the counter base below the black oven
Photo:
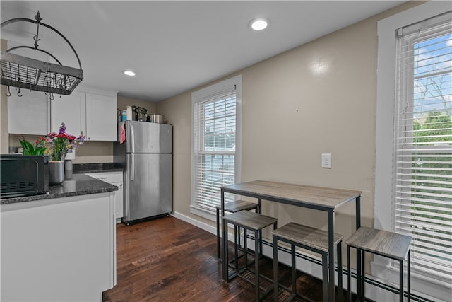
[[[112,192],[2,204],[1,301],[102,301],[116,283]]]

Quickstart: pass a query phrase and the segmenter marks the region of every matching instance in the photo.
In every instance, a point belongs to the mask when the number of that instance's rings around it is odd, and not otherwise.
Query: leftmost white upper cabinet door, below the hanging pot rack
[[[19,97],[11,88],[8,97],[8,133],[45,135],[50,131],[50,106],[47,95],[21,89]]]

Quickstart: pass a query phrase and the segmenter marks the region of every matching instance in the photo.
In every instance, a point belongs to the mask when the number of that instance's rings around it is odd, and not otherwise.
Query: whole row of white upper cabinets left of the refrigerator
[[[87,89],[88,90],[88,89]],[[71,95],[54,95],[53,100],[40,91],[14,88],[8,97],[8,133],[45,135],[66,133],[87,141],[117,141],[117,93],[111,91],[73,91]]]

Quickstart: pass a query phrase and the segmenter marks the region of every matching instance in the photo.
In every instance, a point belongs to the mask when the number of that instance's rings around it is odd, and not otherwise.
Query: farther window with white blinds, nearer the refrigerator
[[[193,98],[191,204],[210,212],[221,202],[220,186],[236,182],[237,84],[223,84]]]

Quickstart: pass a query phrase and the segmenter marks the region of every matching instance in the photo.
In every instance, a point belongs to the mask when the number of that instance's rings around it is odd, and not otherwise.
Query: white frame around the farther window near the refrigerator
[[[190,198],[190,212],[191,214],[196,214],[210,221],[216,221],[215,210],[209,210],[205,207],[200,207],[196,204],[195,200],[195,182],[196,182],[196,167],[195,167],[195,105],[198,102],[203,102],[211,95],[225,91],[227,88],[235,86],[235,98],[236,98],[236,134],[235,134],[235,153],[234,153],[234,179],[235,182],[240,182],[241,180],[241,154],[242,154],[242,75],[233,76],[230,79],[225,79],[213,85],[202,88],[198,91],[191,93],[191,198]],[[218,152],[225,153],[225,152]],[[229,152],[227,152],[229,153]]]

